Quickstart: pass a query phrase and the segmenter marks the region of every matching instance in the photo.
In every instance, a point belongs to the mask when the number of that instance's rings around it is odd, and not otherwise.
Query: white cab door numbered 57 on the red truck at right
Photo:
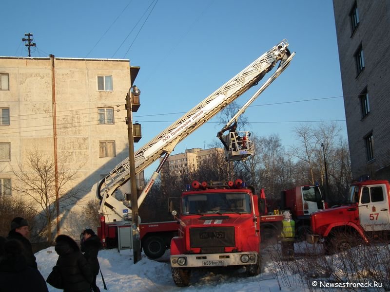
[[[390,229],[389,202],[385,184],[361,187],[359,220],[365,231]]]

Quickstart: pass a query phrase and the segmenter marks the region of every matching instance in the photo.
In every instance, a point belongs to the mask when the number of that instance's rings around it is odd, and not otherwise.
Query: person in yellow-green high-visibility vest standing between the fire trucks
[[[294,237],[295,222],[291,219],[289,211],[283,212],[283,228],[280,238],[282,241],[282,258],[284,260],[294,259]]]

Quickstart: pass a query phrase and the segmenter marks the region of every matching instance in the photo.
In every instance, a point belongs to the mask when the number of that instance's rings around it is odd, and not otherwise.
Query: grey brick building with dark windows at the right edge
[[[390,4],[333,0],[353,178],[390,180]]]

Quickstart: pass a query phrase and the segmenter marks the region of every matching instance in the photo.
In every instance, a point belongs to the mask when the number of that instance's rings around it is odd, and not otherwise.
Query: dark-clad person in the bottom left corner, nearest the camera
[[[0,237],[0,292],[48,292],[45,279],[27,265],[18,240]]]

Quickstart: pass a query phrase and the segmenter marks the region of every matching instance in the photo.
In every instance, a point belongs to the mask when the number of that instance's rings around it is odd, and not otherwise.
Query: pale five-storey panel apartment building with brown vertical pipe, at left
[[[44,153],[59,169],[79,168],[67,188],[94,198],[128,157],[125,98],[138,70],[128,59],[0,57],[0,195],[17,196],[12,169]],[[63,226],[71,213],[61,213]]]

